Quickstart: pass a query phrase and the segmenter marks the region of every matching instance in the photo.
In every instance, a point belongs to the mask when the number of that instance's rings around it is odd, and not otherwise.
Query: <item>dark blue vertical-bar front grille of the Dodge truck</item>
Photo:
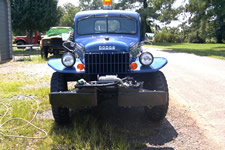
[[[129,53],[85,54],[88,74],[123,74],[129,71]]]

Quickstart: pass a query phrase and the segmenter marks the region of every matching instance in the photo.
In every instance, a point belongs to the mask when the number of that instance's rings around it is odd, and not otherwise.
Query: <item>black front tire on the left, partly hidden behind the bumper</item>
[[[59,92],[66,90],[67,82],[64,79],[64,75],[58,72],[53,73],[51,79],[51,92]],[[71,121],[69,108],[52,105],[52,113],[57,124],[67,124]]]

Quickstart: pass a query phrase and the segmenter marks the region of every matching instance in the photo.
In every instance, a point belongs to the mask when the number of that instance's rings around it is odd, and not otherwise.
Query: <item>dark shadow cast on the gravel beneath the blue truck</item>
[[[164,145],[174,140],[178,133],[167,119],[161,122],[151,122],[144,108],[121,108],[104,106],[97,111],[98,119],[116,126],[117,131],[127,135],[129,141]],[[96,115],[96,116],[97,116]]]

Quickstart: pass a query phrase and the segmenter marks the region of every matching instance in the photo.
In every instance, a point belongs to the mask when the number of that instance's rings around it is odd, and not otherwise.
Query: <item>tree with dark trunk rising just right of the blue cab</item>
[[[136,9],[141,15],[142,37],[146,32],[151,32],[149,26],[154,20],[170,23],[176,20],[176,15],[181,12],[181,8],[172,9],[175,0],[119,0],[115,5],[116,9]],[[138,7],[135,4],[139,3]]]

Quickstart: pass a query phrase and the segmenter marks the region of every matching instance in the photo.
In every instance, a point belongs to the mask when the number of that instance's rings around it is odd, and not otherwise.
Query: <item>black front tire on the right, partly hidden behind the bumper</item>
[[[168,93],[168,85],[164,74],[160,71],[151,73],[148,80],[145,80],[144,88],[149,90],[165,91]],[[167,103],[159,106],[146,106],[145,112],[151,121],[161,121],[165,118],[169,106],[169,95]]]

